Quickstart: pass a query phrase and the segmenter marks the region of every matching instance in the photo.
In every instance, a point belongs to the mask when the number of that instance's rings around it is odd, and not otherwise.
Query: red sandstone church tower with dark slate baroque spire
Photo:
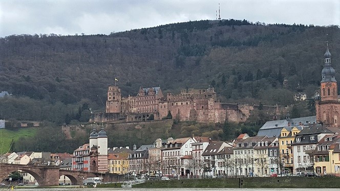
[[[316,122],[322,122],[329,127],[338,127],[340,102],[337,101],[337,82],[335,80],[335,70],[331,65],[331,56],[327,42],[327,49],[324,55],[325,63],[321,72],[321,99],[315,100]]]

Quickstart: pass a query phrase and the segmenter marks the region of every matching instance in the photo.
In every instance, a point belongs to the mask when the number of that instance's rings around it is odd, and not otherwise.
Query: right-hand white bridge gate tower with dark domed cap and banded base
[[[108,135],[103,125],[98,132],[98,173],[108,172]]]

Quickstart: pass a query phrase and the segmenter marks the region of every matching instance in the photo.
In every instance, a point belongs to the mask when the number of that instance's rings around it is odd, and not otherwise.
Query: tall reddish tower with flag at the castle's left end
[[[117,86],[109,86],[105,113],[120,113],[120,99],[120,89]]]

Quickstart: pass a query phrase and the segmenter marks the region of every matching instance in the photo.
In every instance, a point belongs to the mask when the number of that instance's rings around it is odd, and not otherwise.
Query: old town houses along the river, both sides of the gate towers
[[[133,150],[129,147],[109,148],[106,173],[162,174],[170,177],[270,176],[298,172],[340,174],[338,128],[315,123],[286,125],[281,128],[279,135],[249,137],[241,134],[230,142],[213,141],[209,137],[200,136],[177,139],[169,137],[158,138],[153,144],[139,148],[134,145]],[[86,158],[91,155],[91,151],[89,144],[79,148],[82,148],[81,153],[73,155],[49,152],[7,153],[2,156],[1,162],[59,165],[64,170],[83,171],[76,169],[77,165],[74,164],[90,164],[90,160],[79,156]],[[75,152],[79,152],[79,148]],[[76,163],[75,159],[78,160]],[[23,175],[24,182],[35,181],[31,175]],[[62,179],[68,181],[66,177]]]

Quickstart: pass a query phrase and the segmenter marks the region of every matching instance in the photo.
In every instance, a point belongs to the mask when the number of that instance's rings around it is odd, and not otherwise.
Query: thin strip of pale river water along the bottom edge
[[[339,188],[22,188],[22,189],[14,189],[15,191],[42,191],[42,190],[51,190],[51,191],[61,191],[61,190],[70,190],[70,191],[88,191],[88,190],[96,190],[96,191],[107,191],[107,190],[119,190],[119,191],[335,191],[339,190]]]

